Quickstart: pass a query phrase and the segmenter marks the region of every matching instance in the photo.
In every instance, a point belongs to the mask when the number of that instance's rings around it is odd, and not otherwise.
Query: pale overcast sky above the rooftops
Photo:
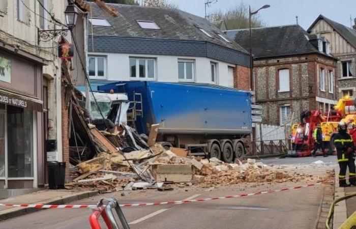
[[[204,2],[206,0],[168,0],[178,5],[181,10],[204,17]],[[350,15],[356,17],[356,0],[218,0],[206,9],[207,14],[217,10],[228,10],[241,2],[258,9],[265,4],[271,5],[268,9],[258,12],[268,26],[295,24],[298,15],[299,24],[307,30],[319,14],[336,22],[350,26]]]

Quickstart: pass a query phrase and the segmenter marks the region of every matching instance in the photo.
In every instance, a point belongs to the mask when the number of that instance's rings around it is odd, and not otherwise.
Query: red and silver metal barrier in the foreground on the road
[[[104,201],[107,201],[107,204],[104,205]],[[115,217],[112,213],[112,209],[115,209],[115,212],[120,219],[120,222],[124,229],[130,229],[129,224],[126,221],[123,211],[120,208],[120,205],[117,204],[116,199],[114,198],[102,198],[100,199],[98,206],[92,208],[93,213],[89,216],[89,222],[92,229],[101,229],[99,222],[99,217],[102,216],[104,222],[108,229],[120,229],[120,226],[115,220]]]

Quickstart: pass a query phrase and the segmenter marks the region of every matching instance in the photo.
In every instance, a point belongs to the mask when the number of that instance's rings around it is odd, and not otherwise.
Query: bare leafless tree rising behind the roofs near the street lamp
[[[253,10],[253,9],[252,9]],[[237,30],[240,28],[249,27],[249,7],[245,3],[227,10],[226,12],[217,11],[208,17],[208,20],[213,23],[225,22],[227,30]],[[259,17],[253,15],[251,18],[251,27],[263,27],[266,23]]]

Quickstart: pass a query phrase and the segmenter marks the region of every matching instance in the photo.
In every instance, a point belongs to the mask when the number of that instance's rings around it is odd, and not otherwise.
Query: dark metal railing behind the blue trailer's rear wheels
[[[288,147],[284,140],[262,140],[252,142],[253,155],[285,154],[287,151]]]

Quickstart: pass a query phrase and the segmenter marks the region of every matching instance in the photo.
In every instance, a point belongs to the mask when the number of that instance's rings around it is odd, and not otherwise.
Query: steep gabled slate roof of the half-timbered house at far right
[[[314,25],[321,19],[324,19],[330,26],[334,28],[336,32],[338,32],[347,42],[349,42],[354,48],[356,48],[356,30],[353,30],[350,27],[347,27],[343,24],[340,24],[336,21],[330,20],[329,18],[319,15],[315,21],[308,28],[308,33],[311,32]]]

